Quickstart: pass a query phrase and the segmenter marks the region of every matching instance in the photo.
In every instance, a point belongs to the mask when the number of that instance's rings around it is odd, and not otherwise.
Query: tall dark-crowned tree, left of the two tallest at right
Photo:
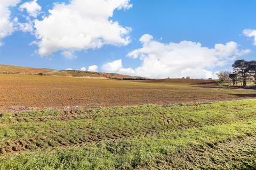
[[[245,60],[237,60],[232,64],[234,74],[237,74],[238,77],[241,77],[243,81],[243,86],[246,86],[246,79],[248,77],[248,67],[249,67],[249,62]]]

